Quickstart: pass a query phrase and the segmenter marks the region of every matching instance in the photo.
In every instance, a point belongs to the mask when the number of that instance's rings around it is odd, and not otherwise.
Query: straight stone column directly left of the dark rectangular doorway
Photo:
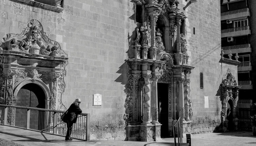
[[[157,75],[152,75],[152,123],[158,122]]]

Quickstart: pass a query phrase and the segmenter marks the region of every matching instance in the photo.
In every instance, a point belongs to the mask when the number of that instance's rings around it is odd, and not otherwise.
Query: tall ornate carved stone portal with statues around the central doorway
[[[185,18],[176,0],[134,0],[137,36],[128,66],[124,118],[129,141],[161,140],[157,82],[168,83],[168,129],[180,117],[183,132],[190,132],[192,103]],[[137,9],[140,9],[136,11]],[[142,12],[142,13],[141,13]],[[140,19],[140,21],[137,21]],[[141,23],[139,23],[141,22]]]

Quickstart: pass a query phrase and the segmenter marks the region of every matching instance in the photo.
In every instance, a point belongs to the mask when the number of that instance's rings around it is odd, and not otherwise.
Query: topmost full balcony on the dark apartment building
[[[242,8],[234,11],[221,13],[221,20],[228,20],[228,19],[247,17],[247,16],[251,16],[249,8]]]

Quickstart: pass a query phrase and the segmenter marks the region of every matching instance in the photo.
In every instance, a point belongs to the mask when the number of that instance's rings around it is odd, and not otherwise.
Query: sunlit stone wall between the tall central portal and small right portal
[[[180,0],[184,6],[186,2]],[[181,9],[182,7],[181,6]],[[192,133],[212,132],[219,126],[221,101],[219,86],[227,69],[237,80],[237,66],[221,63],[220,1],[208,0],[192,3],[186,8],[186,40],[195,68],[191,76],[193,102]],[[195,28],[195,34],[193,29]],[[204,89],[199,87],[199,73],[204,73]],[[204,96],[209,96],[209,108],[204,108]]]

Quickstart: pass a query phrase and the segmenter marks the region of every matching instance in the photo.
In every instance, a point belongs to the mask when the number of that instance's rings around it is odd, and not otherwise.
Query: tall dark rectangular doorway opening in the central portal
[[[161,138],[169,137],[168,128],[168,84],[157,83],[157,100],[159,107],[159,122],[161,126]]]

